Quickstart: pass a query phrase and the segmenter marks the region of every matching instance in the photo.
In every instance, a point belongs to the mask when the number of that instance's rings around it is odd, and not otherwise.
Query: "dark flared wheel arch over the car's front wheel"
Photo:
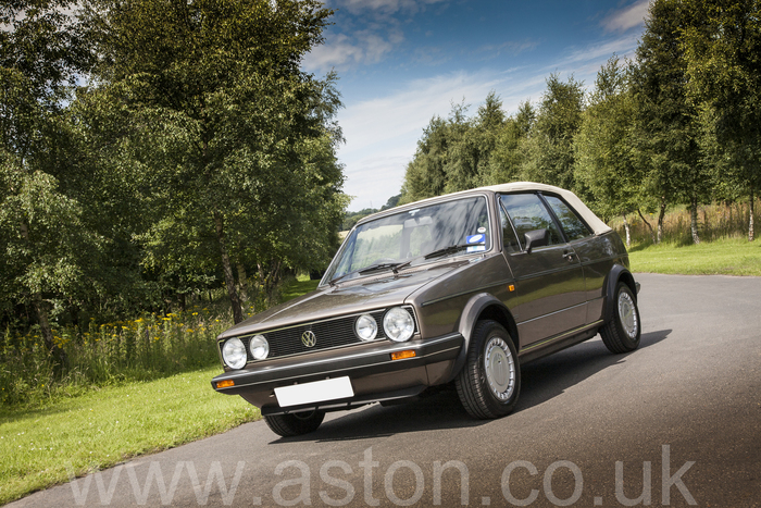
[[[488,293],[479,293],[474,295],[471,297],[467,303],[465,303],[465,307],[460,314],[458,331],[460,334],[462,334],[464,342],[462,349],[460,350],[460,355],[454,361],[452,374],[448,381],[452,381],[454,377],[457,377],[458,373],[462,370],[467,358],[467,350],[476,323],[486,319],[494,320],[504,326],[504,330],[507,330],[508,334],[510,334],[510,338],[515,346],[515,350],[519,351],[521,349],[517,338],[517,325],[515,324],[515,320],[504,303]]]

